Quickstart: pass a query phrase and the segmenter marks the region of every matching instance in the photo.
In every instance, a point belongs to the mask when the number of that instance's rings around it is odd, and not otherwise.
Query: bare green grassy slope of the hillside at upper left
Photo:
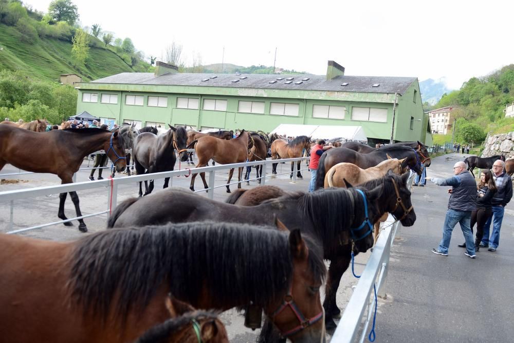
[[[91,46],[85,68],[75,67],[71,43],[54,38],[38,38],[27,43],[15,27],[0,24],[0,70],[21,70],[34,79],[57,81],[60,74],[75,73],[90,81],[134,71],[111,50]]]

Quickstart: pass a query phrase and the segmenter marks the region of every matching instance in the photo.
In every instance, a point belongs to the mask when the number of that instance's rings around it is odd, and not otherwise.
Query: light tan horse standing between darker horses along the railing
[[[386,175],[389,169],[396,174],[402,174],[405,169],[401,168],[401,164],[406,159],[390,158],[380,162],[377,166],[368,169],[361,169],[352,163],[338,163],[334,167],[328,170],[325,175],[325,186],[329,187],[341,187],[347,188],[346,183],[352,186],[358,186],[366,181],[373,180],[376,178],[383,177]],[[388,213],[382,215],[378,222],[373,223],[375,227],[374,237],[375,244],[377,243],[378,234],[380,230],[380,222],[386,221]]]

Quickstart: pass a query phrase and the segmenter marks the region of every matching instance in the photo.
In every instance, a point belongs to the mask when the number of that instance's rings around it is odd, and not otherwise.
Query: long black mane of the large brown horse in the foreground
[[[322,253],[304,239],[312,251],[309,265],[323,279]],[[237,223],[106,230],[79,240],[68,263],[72,299],[84,313],[104,319],[112,306],[123,318],[144,309],[163,282],[177,299],[193,304],[208,285],[218,303],[267,305],[287,291],[292,277],[287,232]]]

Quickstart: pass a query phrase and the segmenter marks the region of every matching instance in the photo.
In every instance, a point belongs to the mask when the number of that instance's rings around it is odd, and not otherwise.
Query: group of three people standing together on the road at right
[[[443,227],[443,239],[432,252],[448,256],[451,234],[457,223],[464,233],[465,242],[458,246],[466,248],[464,254],[472,259],[481,247],[494,252],[500,245],[505,206],[512,198],[512,180],[504,171],[505,162],[494,161],[492,172],[483,169],[477,185],[473,175],[466,170],[462,161],[453,166],[454,176],[449,178],[428,177],[439,186],[452,186],[448,190],[450,200]],[[493,224],[490,232],[491,223]],[[473,239],[473,226],[476,224],[476,236]]]

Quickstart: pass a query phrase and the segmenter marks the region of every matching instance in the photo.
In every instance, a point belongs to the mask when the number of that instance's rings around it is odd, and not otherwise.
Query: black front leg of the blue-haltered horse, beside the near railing
[[[338,255],[336,260],[331,259],[330,267],[328,268],[328,278],[325,287],[325,301],[323,301],[323,308],[325,309],[325,327],[327,330],[334,330],[336,322],[334,317],[338,317],[341,310],[337,307],[336,294],[339,288],[339,282],[343,273],[350,265],[350,246],[345,249],[347,254]]]

